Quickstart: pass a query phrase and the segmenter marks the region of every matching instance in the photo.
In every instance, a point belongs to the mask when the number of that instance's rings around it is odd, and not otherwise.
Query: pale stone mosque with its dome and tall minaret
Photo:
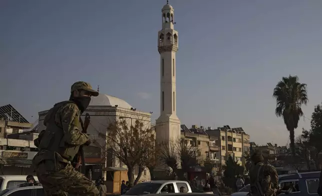
[[[176,90],[175,90],[175,53],[178,49],[178,32],[174,30],[174,15],[173,7],[168,2],[161,9],[161,30],[158,31],[158,52],[160,54],[160,116],[156,120],[155,132],[156,140],[169,141],[180,138],[180,120],[176,115]],[[45,129],[43,119],[48,110],[40,111],[39,114],[39,128]],[[86,146],[85,162],[86,170],[92,172],[92,178],[101,175],[101,169],[98,165],[104,165],[105,168],[112,167],[126,168],[126,166],[117,161],[116,158],[107,155],[106,139],[98,138],[98,132],[108,134],[107,126],[119,119],[124,118],[128,120],[129,124],[134,123],[136,119],[144,121],[150,127],[151,113],[136,110],[133,106],[125,100],[115,96],[100,93],[96,97],[91,97],[91,101],[86,111],[83,112],[90,115],[90,125],[87,133],[96,141],[96,145]],[[101,134],[100,134],[101,135]],[[106,147],[105,147],[106,148]],[[104,158],[106,157],[107,158]],[[88,168],[87,168],[88,165]],[[89,165],[93,165],[89,167]],[[135,175],[134,169],[134,175]],[[105,175],[105,173],[103,173]],[[149,180],[150,175],[148,169],[142,174],[141,180]]]

